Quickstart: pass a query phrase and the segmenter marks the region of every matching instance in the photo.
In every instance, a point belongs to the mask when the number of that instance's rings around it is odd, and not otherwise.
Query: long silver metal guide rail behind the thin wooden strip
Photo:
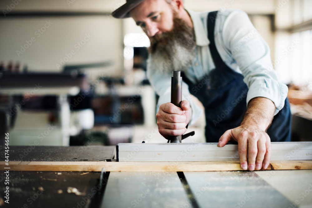
[[[271,160],[312,160],[312,142],[272,142]],[[238,161],[237,144],[119,143],[117,162]]]

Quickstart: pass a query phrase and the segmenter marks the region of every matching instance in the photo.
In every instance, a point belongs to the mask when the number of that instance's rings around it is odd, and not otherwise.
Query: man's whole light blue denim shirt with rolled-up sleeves
[[[208,12],[193,12],[187,10],[194,26],[196,36],[196,53],[192,66],[185,70],[186,76],[193,82],[204,79],[215,68],[209,50],[207,37]],[[288,88],[281,83],[273,70],[270,48],[259,35],[257,28],[250,22],[247,14],[241,10],[219,11],[215,26],[215,44],[224,61],[232,70],[244,76],[248,86],[248,102],[255,97],[265,97],[273,101],[276,107],[275,115],[284,107]],[[160,104],[170,102],[171,75],[163,75],[158,66],[148,64],[147,76],[150,83],[160,96]],[[183,82],[182,99],[188,100],[192,108],[190,125],[196,122],[202,110],[190,99],[188,85]],[[158,111],[158,110],[157,110]]]

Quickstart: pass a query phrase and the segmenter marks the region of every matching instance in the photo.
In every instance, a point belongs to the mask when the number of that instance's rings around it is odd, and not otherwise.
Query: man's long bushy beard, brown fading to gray
[[[173,11],[173,29],[151,39],[149,68],[164,74],[186,71],[195,57],[195,47],[194,29]]]

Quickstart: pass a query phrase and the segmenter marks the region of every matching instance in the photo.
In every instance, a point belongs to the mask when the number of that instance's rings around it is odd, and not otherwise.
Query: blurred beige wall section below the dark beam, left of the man
[[[66,61],[66,54],[71,51],[74,54],[68,55],[71,58],[66,64],[112,60],[115,69],[122,68],[121,27],[116,27],[115,19],[105,16],[10,18],[0,19],[0,25],[7,28],[0,33],[1,60],[21,61],[32,71],[61,70],[56,64],[61,65],[64,58]],[[41,28],[42,34],[38,32]],[[22,52],[21,46],[28,48]]]

